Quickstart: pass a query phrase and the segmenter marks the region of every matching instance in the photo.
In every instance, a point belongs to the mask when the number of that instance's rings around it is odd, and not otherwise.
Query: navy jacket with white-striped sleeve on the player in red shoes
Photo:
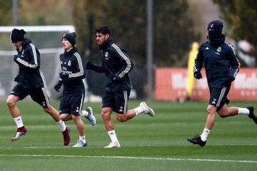
[[[31,43],[29,38],[25,38],[21,44],[21,50],[17,50],[17,58],[14,61],[19,65],[19,74],[14,81],[21,83],[24,88],[43,88],[44,82],[40,75],[40,53]]]

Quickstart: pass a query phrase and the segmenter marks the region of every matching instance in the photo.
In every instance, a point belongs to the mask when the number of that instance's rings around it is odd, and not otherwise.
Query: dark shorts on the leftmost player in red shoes
[[[45,88],[24,88],[21,83],[18,83],[9,94],[18,96],[19,100],[23,100],[29,95],[43,108],[48,108],[51,105]]]

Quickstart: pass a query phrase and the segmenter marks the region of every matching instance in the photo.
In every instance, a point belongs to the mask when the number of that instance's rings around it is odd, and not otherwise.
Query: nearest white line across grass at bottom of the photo
[[[114,158],[135,160],[178,160],[195,162],[243,162],[257,163],[256,160],[216,160],[216,159],[191,159],[191,158],[164,158],[164,157],[131,157],[131,156],[90,156],[90,155],[0,155],[0,157],[85,157],[85,158]]]

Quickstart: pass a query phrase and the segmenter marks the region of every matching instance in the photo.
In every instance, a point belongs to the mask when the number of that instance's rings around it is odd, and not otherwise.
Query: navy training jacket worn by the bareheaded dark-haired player
[[[95,65],[93,70],[105,73],[107,76],[106,90],[130,90],[131,80],[129,71],[133,68],[131,58],[123,47],[116,45],[112,38],[108,38],[100,48],[101,65]]]

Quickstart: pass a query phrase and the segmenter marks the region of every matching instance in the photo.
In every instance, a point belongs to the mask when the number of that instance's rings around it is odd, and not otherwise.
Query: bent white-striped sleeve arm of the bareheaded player
[[[119,61],[121,63],[121,68],[115,73],[115,76],[113,76],[113,79],[115,80],[123,78],[126,73],[129,73],[129,71],[131,71],[131,69],[133,68],[133,63],[129,56],[124,51],[121,51],[121,48],[119,46],[117,46],[116,44],[112,44],[111,46],[114,48],[116,56],[119,58]]]

